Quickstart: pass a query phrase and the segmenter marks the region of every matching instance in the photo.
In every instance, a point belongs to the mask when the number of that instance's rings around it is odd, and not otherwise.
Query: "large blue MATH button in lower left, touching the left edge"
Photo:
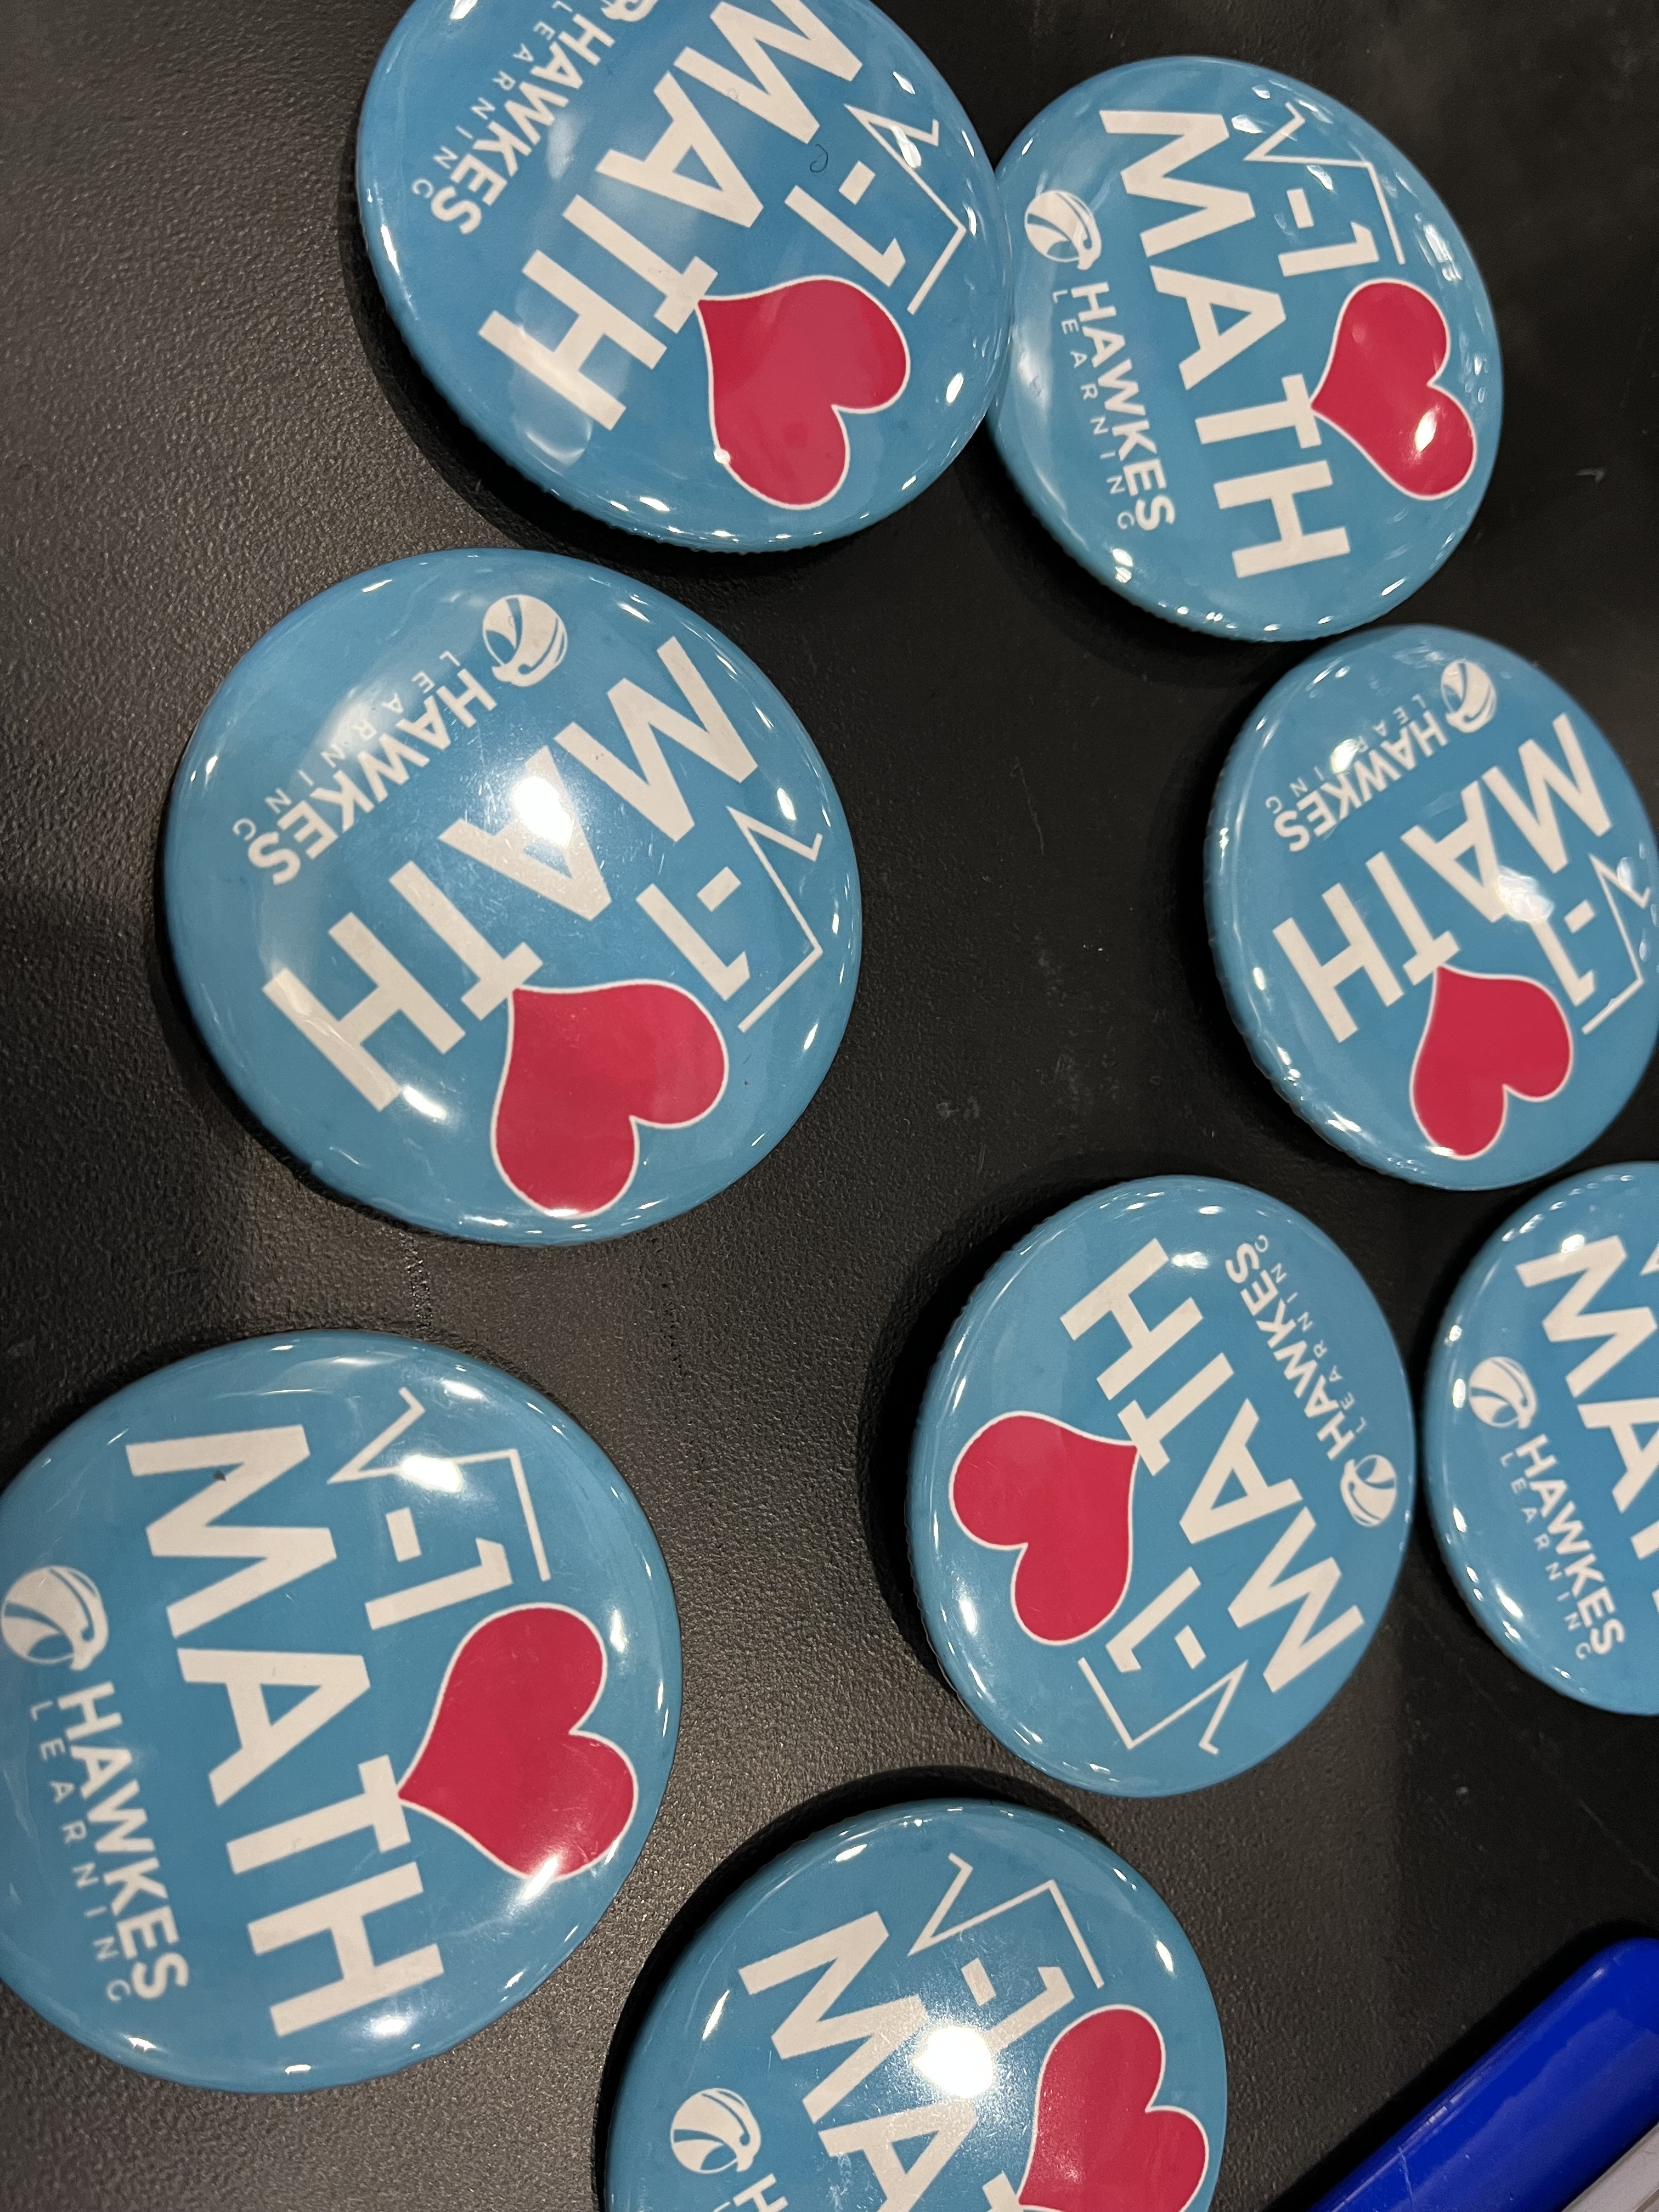
[[[206,2088],[363,2081],[526,1997],[675,1752],[661,1553],[568,1416],[392,1336],[184,1360],[0,1500],[0,1975]]]

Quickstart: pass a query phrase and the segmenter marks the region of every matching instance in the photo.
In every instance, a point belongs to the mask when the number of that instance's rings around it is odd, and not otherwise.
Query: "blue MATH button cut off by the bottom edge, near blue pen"
[[[938,2183],[1203,2212],[1225,2112],[1210,1986],[1139,1874],[1011,1805],[902,1805],[774,1860],[684,1953],[624,2066],[606,2208],[878,2212]]]

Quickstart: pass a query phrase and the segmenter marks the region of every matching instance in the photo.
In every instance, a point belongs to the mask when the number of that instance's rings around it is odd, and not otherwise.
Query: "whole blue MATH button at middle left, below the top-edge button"
[[[201,717],[164,874],[265,1128],[495,1243],[737,1181],[858,978],[852,838],[785,701],[684,606],[544,553],[396,562],[281,622]]]

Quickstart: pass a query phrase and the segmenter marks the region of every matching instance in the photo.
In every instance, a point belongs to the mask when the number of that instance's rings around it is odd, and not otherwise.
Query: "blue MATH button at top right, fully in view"
[[[1044,108],[998,184],[991,431],[1068,553],[1237,637],[1349,630],[1433,575],[1498,451],[1498,334],[1380,133],[1243,62],[1135,62]]]

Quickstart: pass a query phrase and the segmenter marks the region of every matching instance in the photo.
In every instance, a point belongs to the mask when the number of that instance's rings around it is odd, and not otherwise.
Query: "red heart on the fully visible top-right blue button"
[[[1433,383],[1449,354],[1447,319],[1427,292],[1363,283],[1343,301],[1314,394],[1314,414],[1413,500],[1444,500],[1475,465],[1475,425]]]

